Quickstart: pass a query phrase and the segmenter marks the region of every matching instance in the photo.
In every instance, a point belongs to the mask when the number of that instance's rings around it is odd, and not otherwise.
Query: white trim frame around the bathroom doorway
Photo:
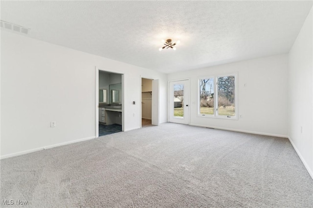
[[[125,107],[124,107],[124,101],[125,101],[125,74],[124,72],[118,71],[118,70],[111,70],[107,68],[99,68],[95,67],[95,137],[99,137],[99,72],[109,72],[114,74],[121,74],[122,76],[122,131],[125,129]]]

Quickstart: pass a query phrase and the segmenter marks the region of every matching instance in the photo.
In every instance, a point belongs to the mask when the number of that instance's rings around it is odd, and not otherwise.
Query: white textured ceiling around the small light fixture
[[[164,73],[289,52],[310,1],[3,1],[29,37]],[[177,50],[162,39],[180,40]]]

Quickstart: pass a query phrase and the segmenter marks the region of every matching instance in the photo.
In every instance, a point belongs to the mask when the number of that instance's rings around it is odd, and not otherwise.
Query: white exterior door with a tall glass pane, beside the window
[[[189,80],[169,82],[169,122],[189,124]]]

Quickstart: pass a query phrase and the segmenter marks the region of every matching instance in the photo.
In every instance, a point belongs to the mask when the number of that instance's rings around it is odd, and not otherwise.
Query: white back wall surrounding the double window
[[[288,55],[168,74],[190,79],[190,124],[287,137]],[[198,79],[238,72],[238,120],[197,117]],[[246,84],[246,87],[244,87]]]

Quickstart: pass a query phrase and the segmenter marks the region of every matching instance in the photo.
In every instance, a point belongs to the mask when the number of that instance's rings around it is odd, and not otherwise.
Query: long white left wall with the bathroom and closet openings
[[[159,79],[167,121],[167,75],[1,31],[1,158],[94,138],[96,66],[124,74],[125,130],[140,127],[141,76]]]

